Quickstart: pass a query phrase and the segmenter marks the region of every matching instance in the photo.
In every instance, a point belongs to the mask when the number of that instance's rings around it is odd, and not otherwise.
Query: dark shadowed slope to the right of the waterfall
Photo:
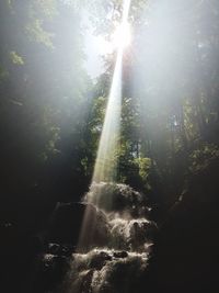
[[[161,223],[150,269],[153,290],[218,292],[218,170],[219,159],[212,159],[191,176]]]

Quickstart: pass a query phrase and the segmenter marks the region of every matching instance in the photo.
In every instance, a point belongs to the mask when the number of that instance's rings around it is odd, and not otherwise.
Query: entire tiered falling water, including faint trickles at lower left
[[[88,209],[95,213],[87,223],[89,237],[94,237],[73,253],[64,245],[59,246],[61,256],[54,255],[54,250],[44,255],[43,270],[47,271],[44,280],[51,279],[51,272],[55,274],[54,289],[51,283],[44,293],[132,293],[139,292],[141,277],[147,279],[157,227],[148,219],[150,209],[146,195],[122,183],[93,184],[84,200],[100,200],[100,205],[92,202],[92,209]],[[113,195],[111,207],[105,201],[108,195]],[[62,281],[57,284],[56,279],[64,272]]]

